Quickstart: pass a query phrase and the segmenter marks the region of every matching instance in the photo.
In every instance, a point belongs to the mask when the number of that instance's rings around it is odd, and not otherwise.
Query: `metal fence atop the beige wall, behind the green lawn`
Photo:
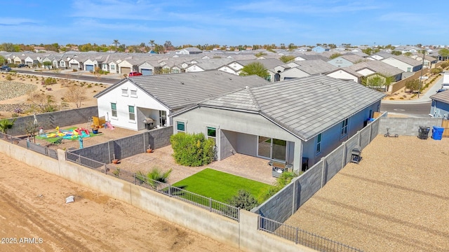
[[[147,174],[143,174],[141,172],[130,172],[126,169],[118,167],[117,165],[105,164],[67,151],[65,152],[65,155],[66,160],[68,161],[75,162],[76,164],[95,169],[111,176],[115,176],[118,179],[123,179],[124,181],[134,183],[135,185],[154,190],[158,193],[162,193],[163,195],[167,195],[168,197],[174,197],[177,200],[182,200],[183,202],[193,204],[196,207],[207,209],[215,214],[220,214],[227,218],[231,218],[234,221],[239,221],[240,209],[238,207],[233,207],[229,204],[213,200],[210,197],[204,197],[182,188],[171,186],[169,183],[149,179]]]

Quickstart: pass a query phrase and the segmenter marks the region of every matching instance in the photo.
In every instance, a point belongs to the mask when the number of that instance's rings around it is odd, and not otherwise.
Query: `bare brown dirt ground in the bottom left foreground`
[[[2,153],[0,162],[0,251],[239,251]]]

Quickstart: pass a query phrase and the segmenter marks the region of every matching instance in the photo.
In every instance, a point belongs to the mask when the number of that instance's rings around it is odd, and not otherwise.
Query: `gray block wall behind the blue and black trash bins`
[[[380,118],[378,134],[387,133],[387,127],[390,134],[399,136],[417,136],[420,126],[430,127],[429,137],[433,126],[441,127],[442,118]]]

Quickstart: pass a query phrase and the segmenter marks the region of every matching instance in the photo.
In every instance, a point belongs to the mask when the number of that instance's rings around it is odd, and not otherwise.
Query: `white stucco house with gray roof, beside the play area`
[[[263,84],[268,83],[258,76],[235,76],[217,70],[170,73],[123,78],[94,97],[98,99],[98,115],[112,125],[145,130],[145,118],[152,118],[156,127],[170,126],[170,113],[242,87]]]

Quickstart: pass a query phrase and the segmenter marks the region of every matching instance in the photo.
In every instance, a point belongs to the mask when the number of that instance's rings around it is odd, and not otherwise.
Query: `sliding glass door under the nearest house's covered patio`
[[[273,160],[286,160],[287,141],[259,136],[257,155]]]

